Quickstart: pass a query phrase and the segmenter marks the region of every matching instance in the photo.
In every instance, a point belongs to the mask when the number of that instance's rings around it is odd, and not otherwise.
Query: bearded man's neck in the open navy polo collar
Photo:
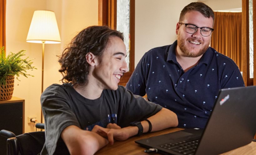
[[[183,55],[183,53],[181,52],[181,50],[178,46],[176,48],[175,53],[176,53],[177,62],[181,65],[184,72],[187,72],[190,68],[196,66],[197,63],[199,62],[200,58],[202,57],[202,55],[195,57],[195,58],[186,57]]]

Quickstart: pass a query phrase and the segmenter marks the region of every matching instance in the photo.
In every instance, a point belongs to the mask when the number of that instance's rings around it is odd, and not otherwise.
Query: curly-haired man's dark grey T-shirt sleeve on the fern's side
[[[62,131],[70,126],[79,126],[75,114],[69,108],[68,94],[61,85],[48,87],[41,95],[42,111],[45,119],[45,147],[54,154]]]

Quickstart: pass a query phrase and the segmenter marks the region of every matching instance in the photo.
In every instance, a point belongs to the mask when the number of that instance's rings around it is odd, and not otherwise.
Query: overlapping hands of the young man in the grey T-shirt
[[[110,124],[109,127],[119,127],[118,125],[113,125]],[[120,128],[120,129],[115,129],[115,128],[102,128],[98,125],[95,125],[94,128],[92,129],[92,132],[98,133],[100,136],[108,138],[109,143],[111,145],[114,144],[114,139],[123,141],[128,139],[129,136],[129,131],[126,128]]]

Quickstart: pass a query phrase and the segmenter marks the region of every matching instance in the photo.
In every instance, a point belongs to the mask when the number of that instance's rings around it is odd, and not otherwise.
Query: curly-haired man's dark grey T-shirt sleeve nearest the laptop
[[[121,106],[119,107],[121,127],[129,126],[131,122],[149,118],[162,109],[160,105],[146,101],[141,96],[133,95],[131,91],[122,86],[119,89],[121,92]]]

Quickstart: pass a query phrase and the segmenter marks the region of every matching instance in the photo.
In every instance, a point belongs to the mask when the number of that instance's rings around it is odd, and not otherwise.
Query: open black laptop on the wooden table
[[[161,154],[215,155],[252,142],[256,86],[221,89],[205,129],[184,129],[135,141]]]

